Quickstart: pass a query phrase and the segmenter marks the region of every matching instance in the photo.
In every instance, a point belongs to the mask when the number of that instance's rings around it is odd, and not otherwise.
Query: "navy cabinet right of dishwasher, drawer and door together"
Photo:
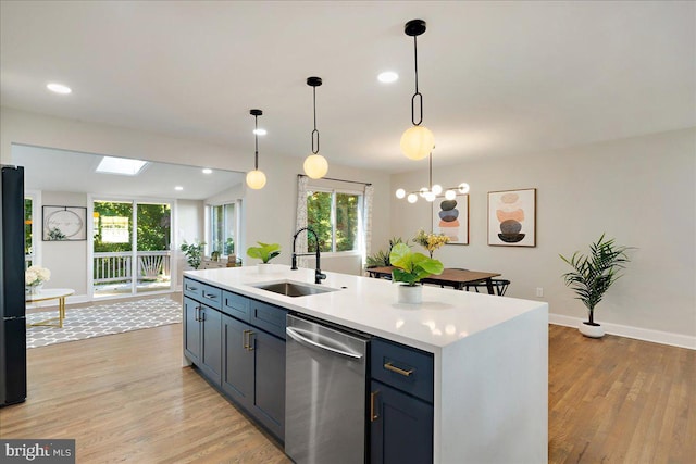
[[[433,462],[433,355],[375,339],[371,349],[370,462]]]

